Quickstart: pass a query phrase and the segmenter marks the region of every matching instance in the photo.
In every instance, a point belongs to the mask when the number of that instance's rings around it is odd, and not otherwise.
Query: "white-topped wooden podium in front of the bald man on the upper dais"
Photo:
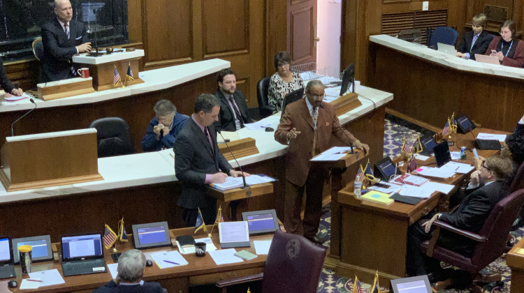
[[[125,50],[125,49],[115,49]],[[114,84],[115,67],[120,75],[122,83],[127,87],[133,84],[142,84],[144,81],[138,77],[138,63],[144,56],[144,50],[134,50],[131,52],[115,52],[97,57],[91,57],[87,54],[73,56],[74,63],[80,63],[81,67],[89,68],[89,75],[93,77],[93,88],[96,91],[105,91],[107,89],[117,89],[122,87],[120,83]],[[131,66],[133,80],[126,77],[127,68]]]

